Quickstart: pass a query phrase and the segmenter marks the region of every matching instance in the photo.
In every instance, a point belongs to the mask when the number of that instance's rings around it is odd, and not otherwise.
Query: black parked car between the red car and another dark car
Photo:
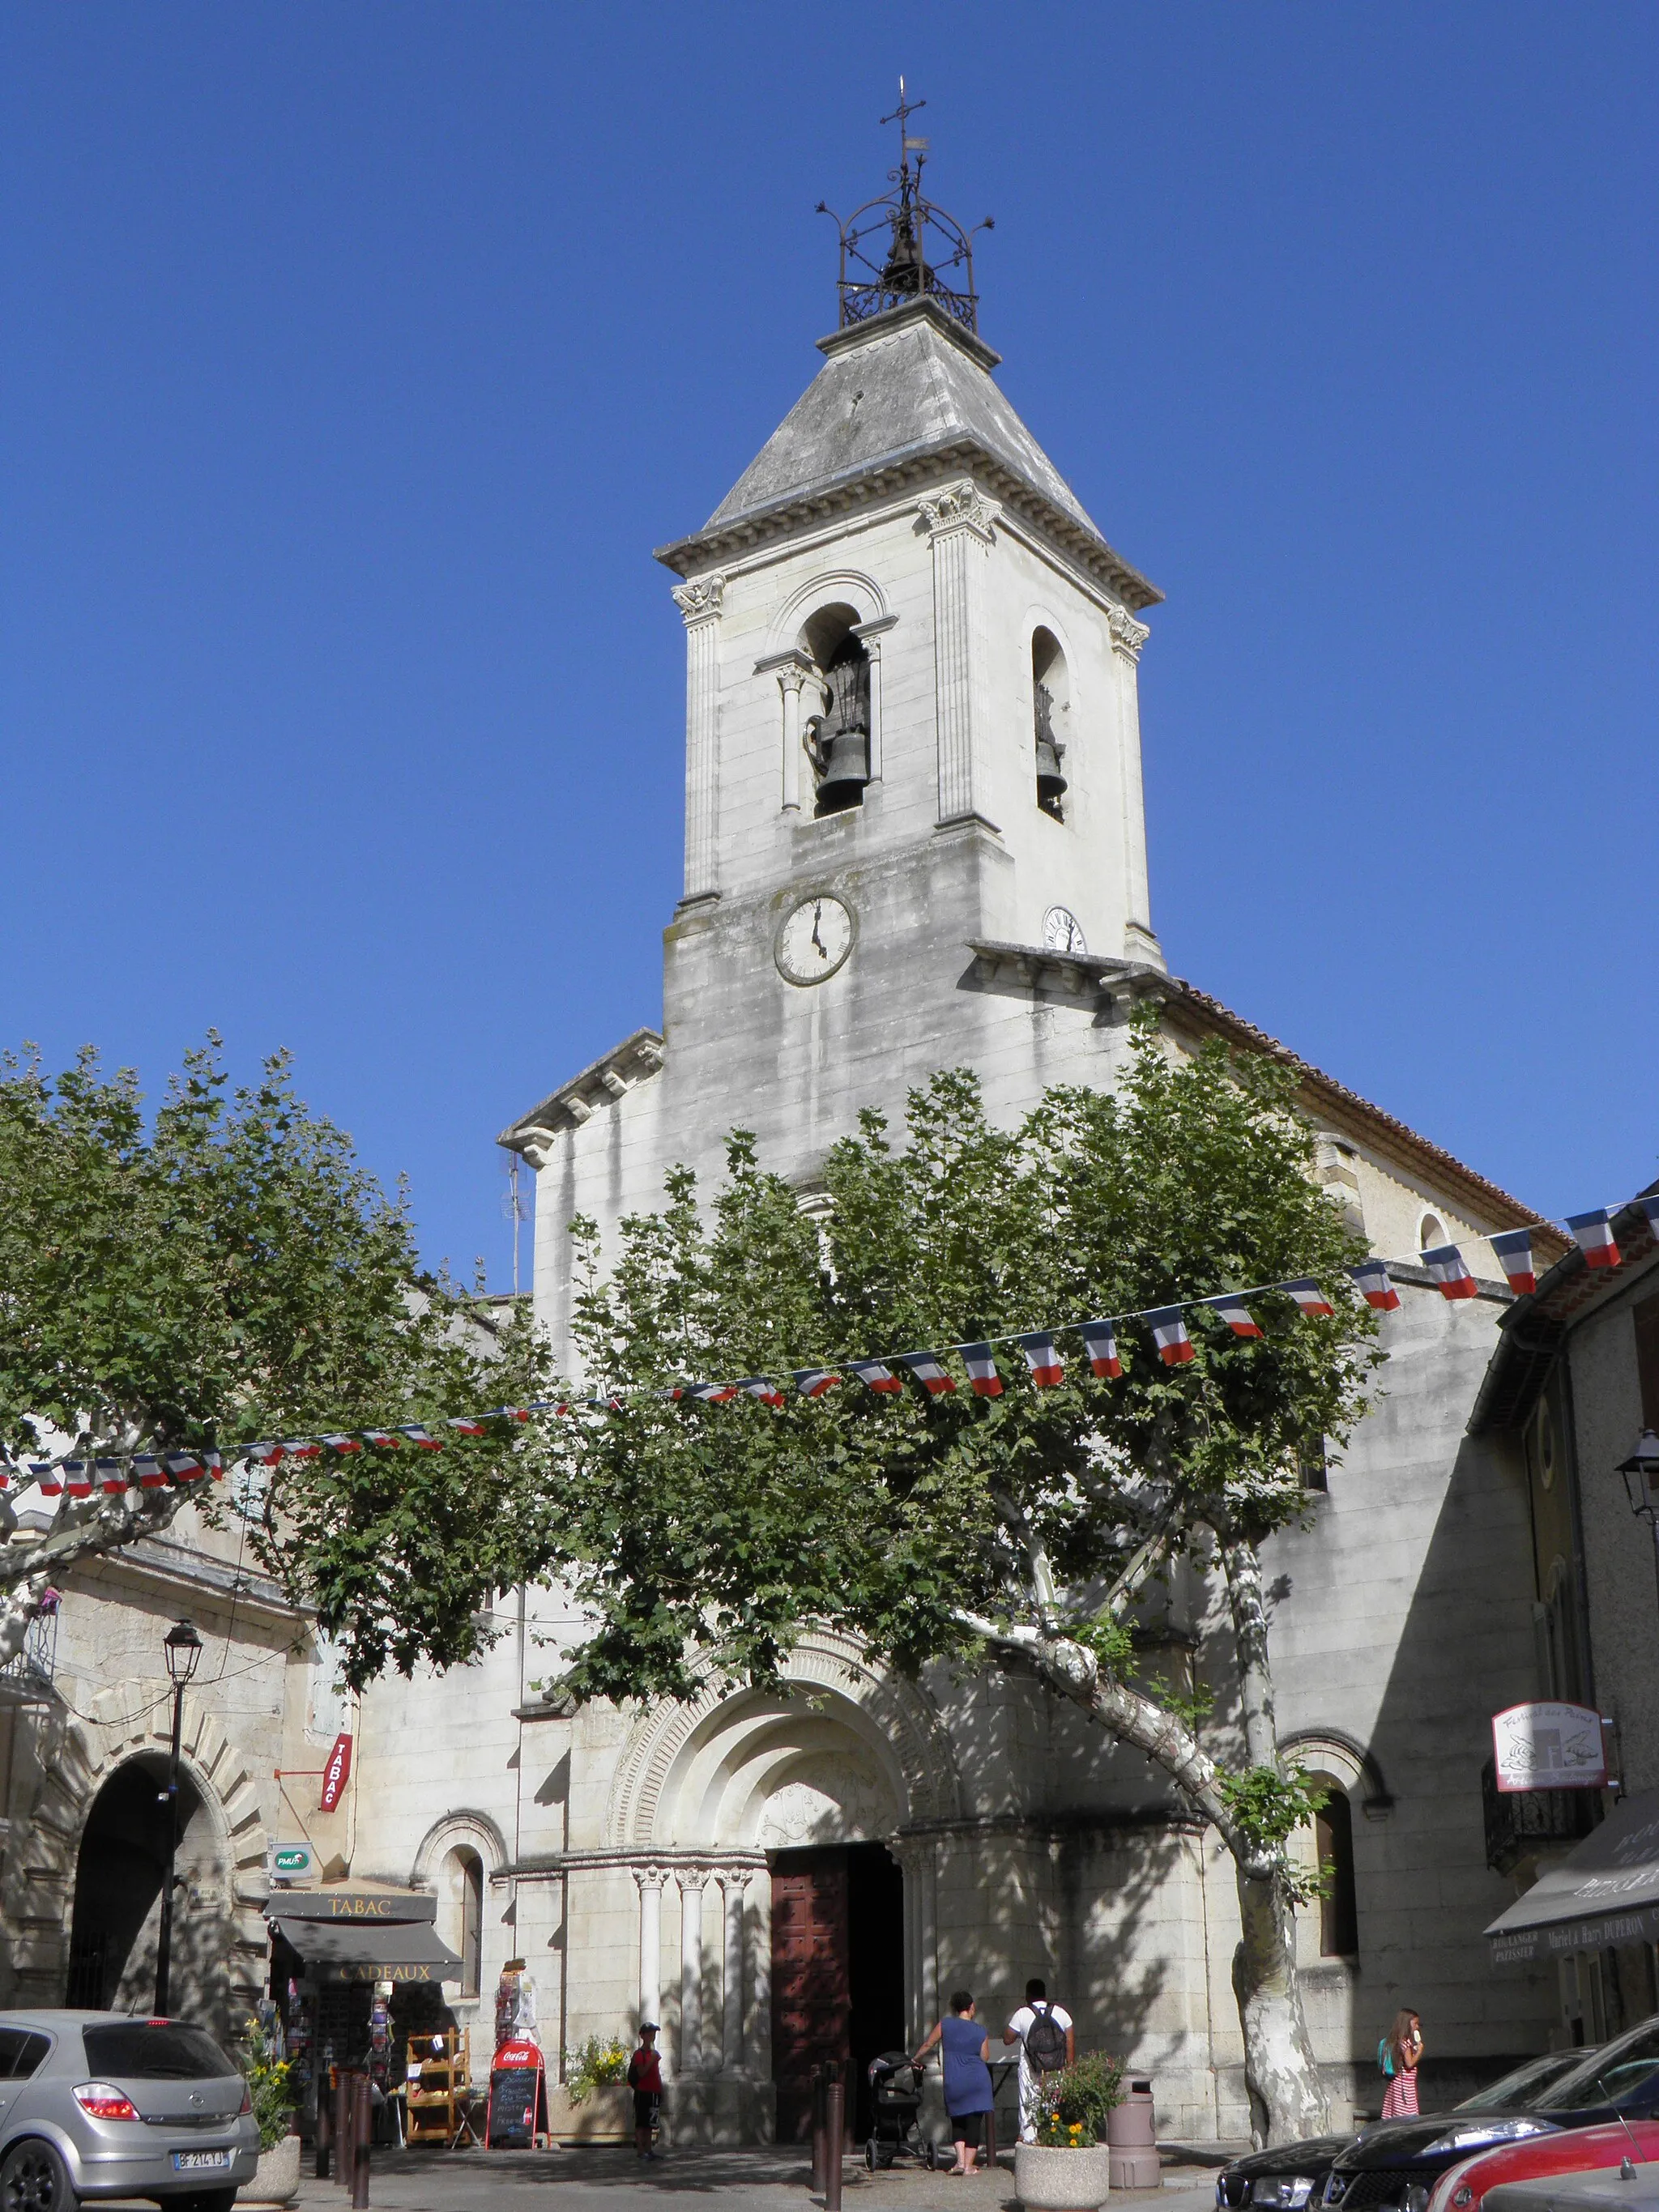
[[[1486,2093],[1486,2099],[1471,2099],[1455,2112],[1385,2119],[1367,2128],[1334,2161],[1325,2205],[1340,2205],[1343,2212],[1429,2212],[1436,2181],[1478,2150],[1659,2112],[1659,2013],[1599,2051],[1575,2057],[1577,2064],[1546,2088],[1522,2093],[1520,2110],[1493,2110]]]

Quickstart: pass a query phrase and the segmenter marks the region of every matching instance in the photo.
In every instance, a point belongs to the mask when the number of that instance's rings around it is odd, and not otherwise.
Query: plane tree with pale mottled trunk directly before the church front
[[[998,1128],[975,1079],[942,1073],[902,1133],[865,1113],[810,1203],[739,1133],[708,1199],[679,1168],[613,1250],[586,1221],[577,1250],[575,1356],[615,1405],[555,1425],[551,1564],[588,1610],[562,1688],[779,1686],[816,1626],[905,1670],[1026,1670],[1223,1838],[1254,2124],[1321,2132],[1294,1955],[1314,1885],[1292,1849],[1318,1801],[1279,1752],[1261,1546],[1305,1515],[1301,1467],[1340,1449],[1378,1352],[1345,1272],[1363,1248],[1314,1183],[1290,1077],[1219,1046],[1175,1060],[1146,1022],[1113,1095],[1055,1088]],[[1254,1290],[1290,1276],[1329,1312]],[[1188,1312],[1181,1365],[1119,1321],[1119,1374],[1071,1334],[1064,1380],[1035,1387],[1009,1340],[1245,1290],[1261,1334]],[[949,1358],[940,1396],[845,1369],[975,1338],[1002,1338],[995,1396]],[[807,1396],[801,1369],[843,1380]],[[686,1389],[710,1383],[748,1387]],[[1214,1601],[1197,1677],[1166,1681],[1141,1619],[1181,1573]]]

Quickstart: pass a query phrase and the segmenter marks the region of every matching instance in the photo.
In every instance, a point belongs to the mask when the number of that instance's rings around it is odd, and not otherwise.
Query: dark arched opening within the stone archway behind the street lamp
[[[166,1761],[128,1759],[93,1798],[75,1858],[75,1907],[64,2002],[88,2011],[148,2011],[166,1869]],[[173,1900],[175,2013],[217,2017],[228,2004],[234,1929],[226,1911],[215,1818],[179,1774]]]

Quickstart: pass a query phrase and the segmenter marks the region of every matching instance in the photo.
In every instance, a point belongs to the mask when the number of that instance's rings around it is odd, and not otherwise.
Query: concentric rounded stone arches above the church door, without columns
[[[801,1794],[843,1752],[867,1776],[858,1814],[891,1825],[958,1812],[951,1741],[929,1699],[852,1637],[807,1637],[785,1668],[785,1697],[710,1683],[690,1703],[650,1705],[628,1734],[611,1787],[606,1843],[622,1849],[743,1847],[765,1803]]]

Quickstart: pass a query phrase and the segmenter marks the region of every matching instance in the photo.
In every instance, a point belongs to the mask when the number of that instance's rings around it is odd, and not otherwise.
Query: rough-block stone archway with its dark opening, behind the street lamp
[[[131,1825],[146,1787],[161,1785],[173,1732],[173,1697],[164,1679],[128,1681],[102,1692],[91,1714],[49,1708],[38,1734],[40,1781],[29,1812],[22,1849],[7,1854],[0,1889],[0,1927],[11,1938],[0,1944],[4,1982],[0,2002],[11,2006],[64,2002],[75,1924],[75,1889],[82,1847],[91,1829],[95,1851]],[[223,2031],[232,2028],[261,1995],[268,1933],[261,1913],[265,1867],[265,1818],[250,1763],[201,1697],[184,1699],[179,1743],[181,1803],[190,1809],[179,1871],[186,1887],[175,1902],[175,2011],[195,2011]],[[106,1790],[111,1792],[106,1796]],[[124,1803],[128,1801],[131,1803]],[[104,1818],[95,1820],[100,1801]],[[257,1887],[254,1887],[257,1885]],[[159,1871],[155,1876],[159,1896]],[[135,1898],[126,1898],[126,1920]],[[122,1911],[113,1931],[126,1929]],[[146,1905],[137,1929],[126,1929],[133,1973],[144,1978],[144,1929],[155,1911]],[[135,1960],[135,1953],[139,1958]],[[108,1953],[106,1953],[108,1962]],[[88,1969],[91,1971],[91,1969]],[[150,1938],[153,1971],[153,1938]],[[117,1986],[119,1975],[117,1975]],[[139,2004],[150,1997],[135,1986]]]

